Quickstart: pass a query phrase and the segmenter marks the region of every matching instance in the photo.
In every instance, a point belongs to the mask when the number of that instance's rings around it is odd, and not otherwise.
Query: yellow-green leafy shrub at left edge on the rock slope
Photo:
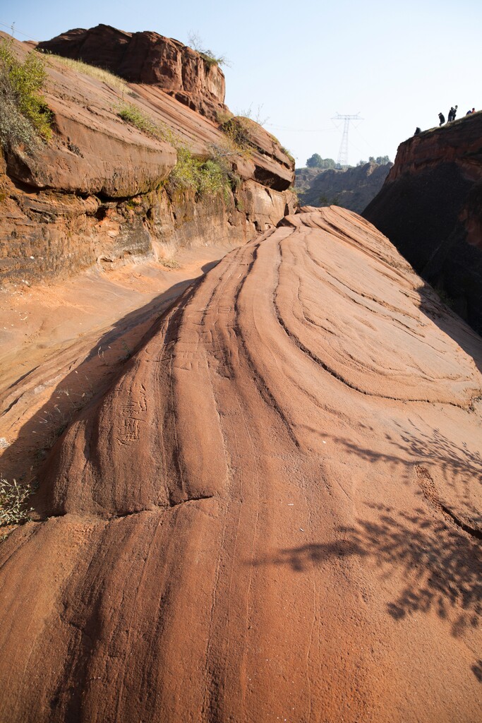
[[[0,142],[9,148],[25,145],[32,150],[35,138],[50,140],[51,112],[41,93],[46,69],[36,53],[17,60],[12,40],[0,42]]]

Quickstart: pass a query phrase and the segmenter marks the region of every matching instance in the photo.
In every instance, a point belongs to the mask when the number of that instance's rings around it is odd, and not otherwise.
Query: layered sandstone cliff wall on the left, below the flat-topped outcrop
[[[25,55],[22,43],[14,47]],[[158,85],[130,85],[126,95],[61,59],[46,56],[46,63],[53,140],[33,155],[17,148],[0,156],[1,281],[38,281],[165,249],[172,254],[209,244],[213,234],[218,243],[244,243],[293,209],[293,194],[285,193],[293,161],[252,121],[249,154],[229,155],[240,182],[228,197],[171,193],[165,181],[176,147],[169,141],[201,158],[213,147],[223,153],[227,137],[218,125]],[[163,127],[168,140],[122,121],[117,110],[126,101]]]

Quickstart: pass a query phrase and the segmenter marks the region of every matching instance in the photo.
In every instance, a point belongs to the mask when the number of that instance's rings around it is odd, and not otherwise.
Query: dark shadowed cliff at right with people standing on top
[[[482,333],[482,113],[402,143],[363,215]]]

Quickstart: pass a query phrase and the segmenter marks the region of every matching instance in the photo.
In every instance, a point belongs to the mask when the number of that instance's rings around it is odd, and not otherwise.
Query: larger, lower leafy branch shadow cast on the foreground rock
[[[387,604],[387,613],[395,620],[433,609],[451,625],[454,636],[468,626],[477,627],[482,613],[480,546],[421,509],[408,514],[384,505],[371,506],[378,519],[340,527],[339,541],[280,549],[254,564],[289,565],[302,573],[334,557],[370,558],[384,578],[401,573],[405,580],[403,589]]]

